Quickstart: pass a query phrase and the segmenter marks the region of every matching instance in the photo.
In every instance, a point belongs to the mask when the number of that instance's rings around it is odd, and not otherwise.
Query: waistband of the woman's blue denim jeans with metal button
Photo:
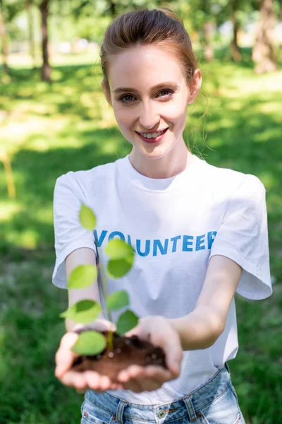
[[[171,420],[177,420],[183,417],[183,406],[187,409],[185,416],[190,418],[190,422],[197,421],[197,411],[204,408],[207,404],[212,403],[214,399],[221,396],[231,384],[230,371],[227,364],[219,369],[214,377],[209,379],[201,387],[192,391],[183,398],[176,399],[168,404],[158,405],[139,405],[125,401],[113,394],[95,393],[92,390],[86,392],[85,397],[105,411],[116,416],[116,422],[123,424],[126,418],[130,420],[146,420],[158,424],[164,424]]]

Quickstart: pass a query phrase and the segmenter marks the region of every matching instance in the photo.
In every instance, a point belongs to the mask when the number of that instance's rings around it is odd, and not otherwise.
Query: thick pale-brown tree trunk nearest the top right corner
[[[252,49],[252,60],[257,63],[256,73],[276,71],[272,31],[274,28],[273,0],[262,0],[257,40]]]

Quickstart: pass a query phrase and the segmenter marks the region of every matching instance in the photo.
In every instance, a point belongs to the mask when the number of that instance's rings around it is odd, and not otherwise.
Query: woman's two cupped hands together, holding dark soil
[[[106,319],[97,319],[91,325],[97,331],[116,331],[115,324]],[[73,361],[78,353],[71,351],[78,339],[78,334],[68,331],[61,338],[61,343],[55,355],[55,376],[66,386],[75,387],[80,394],[92,389],[106,391],[128,389],[140,393],[159,389],[164,382],[176,379],[180,375],[180,365],[183,358],[183,349],[180,336],[168,320],[160,315],[139,319],[134,329],[124,334],[125,337],[138,336],[140,340],[149,341],[154,346],[163,349],[166,356],[166,367],[160,365],[130,365],[118,373],[118,383],[114,383],[106,375],[95,371],[76,372],[72,370]]]

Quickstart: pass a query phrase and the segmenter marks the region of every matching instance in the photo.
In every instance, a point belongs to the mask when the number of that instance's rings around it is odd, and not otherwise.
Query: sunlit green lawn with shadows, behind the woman
[[[203,93],[185,131],[208,163],[257,175],[266,187],[274,294],[235,295],[240,349],[229,363],[247,424],[282,416],[282,71],[256,76],[250,52],[200,60]],[[0,162],[0,424],[77,424],[83,395],[54,377],[67,292],[51,284],[56,178],[129,153],[103,97],[99,64],[54,66],[54,83],[12,69],[0,91],[0,156],[11,156],[16,199]],[[280,183],[280,184],[279,184]]]

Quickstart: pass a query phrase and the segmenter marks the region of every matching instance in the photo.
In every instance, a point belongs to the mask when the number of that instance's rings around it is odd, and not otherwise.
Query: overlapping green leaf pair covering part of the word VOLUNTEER
[[[130,271],[134,261],[133,247],[120,239],[113,239],[106,245],[105,253],[109,256],[107,271],[111,278],[121,278]]]

